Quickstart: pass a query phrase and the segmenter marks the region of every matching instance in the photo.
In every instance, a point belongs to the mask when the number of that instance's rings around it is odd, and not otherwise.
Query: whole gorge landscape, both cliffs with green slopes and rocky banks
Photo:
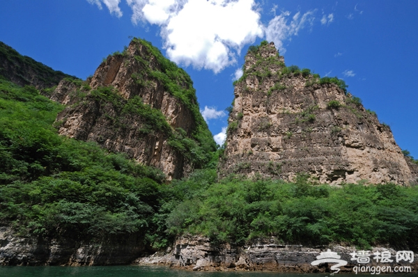
[[[418,161],[272,43],[249,47],[224,145],[146,40],[86,80],[0,50],[1,265],[324,273],[328,249],[342,272],[355,251],[418,250]]]

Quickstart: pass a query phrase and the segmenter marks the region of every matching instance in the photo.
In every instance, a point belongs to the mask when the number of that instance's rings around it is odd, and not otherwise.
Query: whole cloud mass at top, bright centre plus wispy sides
[[[122,16],[121,0],[87,0],[110,13]],[[316,10],[307,13],[285,11],[276,15],[267,26],[261,23],[261,6],[256,0],[125,0],[132,9],[132,23],[160,26],[167,56],[178,64],[208,69],[215,73],[236,63],[242,47],[256,38],[273,41],[282,54],[284,41],[304,28],[312,27]],[[324,15],[321,22],[330,24],[334,15]],[[239,73],[239,72],[236,72]]]

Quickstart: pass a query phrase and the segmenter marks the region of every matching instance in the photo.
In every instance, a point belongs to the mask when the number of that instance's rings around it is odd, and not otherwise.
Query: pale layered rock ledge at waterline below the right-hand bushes
[[[282,245],[271,241],[261,241],[248,246],[231,246],[221,244],[214,246],[206,237],[185,236],[177,239],[173,249],[169,248],[167,253],[156,253],[150,257],[139,258],[137,264],[164,264],[173,268],[203,270],[203,271],[281,271],[281,272],[300,272],[300,273],[323,273],[333,272],[330,269],[333,263],[323,263],[311,265],[317,260],[321,252],[330,249],[340,255],[341,260],[348,263],[346,266],[339,267],[341,272],[351,272],[357,262],[351,260],[356,250],[354,247],[344,246],[316,246],[305,247],[301,245]],[[403,249],[402,249],[403,250]],[[390,251],[392,260],[389,263],[377,263],[373,260],[373,253],[376,251]],[[373,248],[370,251],[371,262],[362,264],[364,266],[391,266],[399,265],[411,266],[412,271],[417,271],[417,258],[414,262],[396,263],[394,249],[382,247]]]

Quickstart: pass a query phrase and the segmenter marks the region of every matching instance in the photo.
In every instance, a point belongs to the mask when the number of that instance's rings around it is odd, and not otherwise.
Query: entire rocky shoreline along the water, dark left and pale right
[[[164,265],[174,269],[190,271],[277,271],[289,273],[334,272],[335,263],[323,262],[312,265],[328,249],[335,252],[346,264],[339,267],[340,272],[353,272],[359,265],[369,267],[403,267],[417,272],[418,255],[413,262],[395,261],[396,250],[376,247],[369,253],[371,262],[357,264],[351,261],[355,247],[302,246],[277,244],[274,238],[255,242],[248,246],[210,243],[207,237],[185,235],[176,239],[166,251],[144,255],[146,248],[141,239],[125,237],[92,243],[76,242],[72,239],[36,239],[17,237],[10,227],[0,227],[0,265]],[[372,253],[389,251],[393,262],[376,263]],[[322,254],[321,254],[322,253]],[[140,258],[139,258],[140,257]]]

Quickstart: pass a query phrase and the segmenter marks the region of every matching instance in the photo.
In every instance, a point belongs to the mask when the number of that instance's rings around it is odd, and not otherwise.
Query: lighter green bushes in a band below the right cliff
[[[203,234],[214,242],[244,244],[274,235],[279,242],[305,245],[339,242],[417,248],[418,187],[240,180],[215,175],[179,181],[181,202],[168,216],[172,234]]]

